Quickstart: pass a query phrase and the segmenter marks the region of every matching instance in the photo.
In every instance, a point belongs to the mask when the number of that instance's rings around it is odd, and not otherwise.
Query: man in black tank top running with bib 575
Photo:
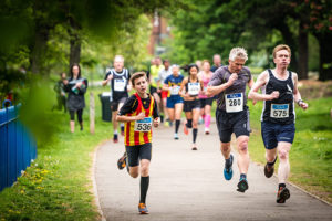
[[[251,91],[249,99],[263,101],[261,114],[261,135],[266,147],[267,164],[264,175],[270,178],[274,172],[277,154],[279,155],[279,187],[277,203],[284,203],[290,197],[286,180],[290,172],[289,150],[295,134],[294,102],[307,109],[298,90],[298,75],[287,70],[291,59],[288,45],[280,44],[273,50],[274,70],[262,72]],[[258,93],[261,88],[262,94]]]

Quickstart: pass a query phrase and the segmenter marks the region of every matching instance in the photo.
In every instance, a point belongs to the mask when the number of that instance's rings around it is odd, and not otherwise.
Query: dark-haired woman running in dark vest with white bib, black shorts
[[[188,129],[193,128],[193,150],[197,150],[197,125],[200,113],[200,101],[198,94],[203,91],[203,82],[199,81],[197,76],[198,71],[199,67],[196,64],[190,64],[188,66],[188,77],[184,78],[180,87],[180,95],[184,97],[184,110],[187,118],[184,124],[184,133],[185,135],[188,135]]]

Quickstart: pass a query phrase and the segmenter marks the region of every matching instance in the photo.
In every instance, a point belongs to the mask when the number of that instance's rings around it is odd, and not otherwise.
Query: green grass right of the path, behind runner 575
[[[250,103],[250,102],[249,102]],[[260,135],[262,103],[250,106],[252,134],[249,152],[253,161],[264,164],[264,147]],[[332,98],[309,101],[309,108],[295,108],[295,138],[290,150],[289,180],[309,192],[332,202]],[[278,167],[278,165],[277,165]]]

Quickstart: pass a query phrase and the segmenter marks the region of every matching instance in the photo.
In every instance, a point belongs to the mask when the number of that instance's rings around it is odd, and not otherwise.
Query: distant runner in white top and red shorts
[[[162,88],[166,77],[172,74],[172,71],[169,67],[169,65],[170,65],[169,61],[164,60],[163,64],[164,64],[164,69],[162,71],[159,71],[159,73],[158,73],[157,88]],[[167,107],[166,107],[167,95],[168,95],[168,91],[162,90],[162,92],[160,92],[160,96],[162,96],[160,110],[163,110],[163,114],[165,115],[165,122],[164,122],[165,126],[169,126],[169,117],[168,117]]]

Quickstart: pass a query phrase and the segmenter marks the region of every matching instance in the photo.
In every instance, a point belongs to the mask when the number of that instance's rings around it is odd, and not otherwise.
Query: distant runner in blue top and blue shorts
[[[168,97],[166,104],[167,112],[169,116],[169,122],[173,123],[175,119],[174,139],[178,139],[177,133],[180,125],[181,113],[184,108],[184,99],[179,95],[179,88],[184,80],[184,76],[179,75],[178,65],[173,65],[170,70],[172,70],[172,75],[166,77],[163,90],[168,91]]]

